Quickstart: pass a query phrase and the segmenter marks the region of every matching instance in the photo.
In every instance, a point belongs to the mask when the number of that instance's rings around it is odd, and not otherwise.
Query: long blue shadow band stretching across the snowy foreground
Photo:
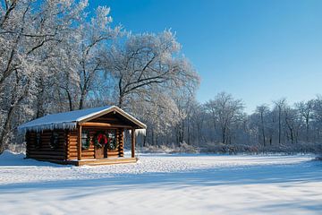
[[[35,161],[32,161],[35,164]],[[38,162],[42,163],[42,162]],[[29,166],[29,164],[24,163]],[[31,165],[31,164],[30,164]],[[44,167],[66,168],[44,162]],[[0,166],[4,166],[1,165]],[[1,168],[1,167],[0,167]],[[39,167],[37,167],[39,168]],[[91,173],[96,174],[96,173]],[[106,174],[106,176],[104,176]],[[215,185],[258,185],[281,183],[309,183],[322,181],[322,163],[318,161],[302,161],[296,164],[264,164],[229,168],[198,168],[182,172],[147,172],[141,174],[109,174],[99,173],[95,179],[64,179],[47,182],[23,182],[0,185],[1,193],[25,193],[43,189],[68,189],[91,187],[91,193],[101,189],[108,190],[137,189],[138,187],[183,188],[186,186]]]

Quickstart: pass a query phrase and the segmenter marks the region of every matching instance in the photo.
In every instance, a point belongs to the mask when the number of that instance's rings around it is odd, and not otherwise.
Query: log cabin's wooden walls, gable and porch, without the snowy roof
[[[73,129],[27,130],[26,158],[77,166],[135,162],[135,130],[146,126],[120,110],[109,107],[79,120]],[[126,130],[131,131],[131,158],[124,158]],[[99,144],[99,137],[107,143]]]

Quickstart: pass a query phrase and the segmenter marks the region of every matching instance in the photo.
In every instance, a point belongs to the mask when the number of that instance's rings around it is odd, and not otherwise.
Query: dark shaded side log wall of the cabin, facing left
[[[67,147],[67,131],[56,130],[58,133],[58,144],[53,148],[50,144],[52,131],[40,132],[40,145],[37,144],[37,133],[26,133],[27,149],[26,157],[30,159],[43,159],[43,160],[64,160],[66,156]]]

